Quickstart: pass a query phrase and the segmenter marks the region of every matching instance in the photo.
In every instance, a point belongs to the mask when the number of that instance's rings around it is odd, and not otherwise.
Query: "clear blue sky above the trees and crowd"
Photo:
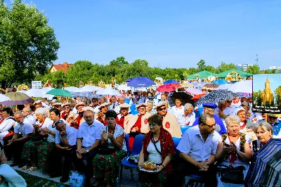
[[[25,1],[30,3],[31,1]],[[55,63],[281,66],[280,0],[33,0],[60,41]],[[9,1],[6,1],[9,3]]]

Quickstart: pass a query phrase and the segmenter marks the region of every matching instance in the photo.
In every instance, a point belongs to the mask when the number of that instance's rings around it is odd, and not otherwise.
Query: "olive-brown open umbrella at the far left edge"
[[[6,93],[5,96],[8,96],[10,100],[0,102],[3,105],[25,105],[34,102],[34,100],[30,98],[30,96],[27,96],[27,94],[25,93],[9,92]]]

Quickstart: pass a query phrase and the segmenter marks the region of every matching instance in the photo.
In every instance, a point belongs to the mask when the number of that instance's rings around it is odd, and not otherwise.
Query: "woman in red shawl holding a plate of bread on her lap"
[[[163,128],[162,116],[152,115],[148,118],[150,131],[143,138],[143,148],[138,160],[138,167],[145,162],[156,165],[155,173],[138,173],[141,186],[165,186],[166,179],[172,172],[171,160],[176,155],[174,141],[169,131]]]

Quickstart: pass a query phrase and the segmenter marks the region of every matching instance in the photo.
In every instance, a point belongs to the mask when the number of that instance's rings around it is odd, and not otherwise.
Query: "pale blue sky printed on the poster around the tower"
[[[281,75],[254,75],[253,76],[253,91],[263,91],[265,88],[266,79],[270,81],[270,89],[271,91],[275,91],[278,86],[281,86]]]

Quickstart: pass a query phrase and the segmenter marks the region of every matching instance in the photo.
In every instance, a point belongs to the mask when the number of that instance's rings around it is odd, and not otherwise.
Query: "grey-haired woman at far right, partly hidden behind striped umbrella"
[[[253,141],[254,153],[258,152],[271,138],[273,138],[273,127],[266,121],[257,122],[252,128],[257,140]]]

